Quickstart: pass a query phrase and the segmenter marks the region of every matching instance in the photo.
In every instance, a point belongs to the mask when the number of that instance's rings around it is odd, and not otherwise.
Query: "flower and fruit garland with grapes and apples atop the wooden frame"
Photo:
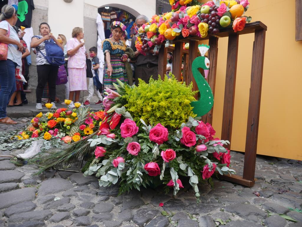
[[[199,1],[198,1],[199,2]],[[251,17],[242,16],[248,9],[248,0],[217,0],[203,5],[188,5],[192,0],[170,0],[173,11],[154,15],[139,29],[135,47],[141,54],[158,54],[162,44],[166,47],[176,37],[207,37],[219,33],[221,28],[242,31]],[[177,10],[176,10],[177,9]]]

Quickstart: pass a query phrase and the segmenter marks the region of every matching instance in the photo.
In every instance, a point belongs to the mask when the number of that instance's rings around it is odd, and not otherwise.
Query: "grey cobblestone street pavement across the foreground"
[[[22,124],[0,125],[0,130],[15,130]],[[231,154],[233,168],[242,173],[244,155]],[[99,187],[94,176],[54,170],[33,175],[37,171],[34,165],[16,167],[9,157],[0,157],[0,227],[302,226],[301,161],[258,156],[253,187],[213,179],[214,189],[199,186],[200,203],[184,182],[185,190],[176,197],[160,189],[133,190],[117,197],[116,186]]]

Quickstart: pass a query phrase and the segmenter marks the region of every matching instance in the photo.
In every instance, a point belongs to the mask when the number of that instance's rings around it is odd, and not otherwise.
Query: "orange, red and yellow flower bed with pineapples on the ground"
[[[66,105],[69,105],[70,102],[70,100],[65,100]],[[60,108],[55,111],[50,111],[53,104],[46,103],[45,105],[49,112],[37,114],[27,129],[21,131],[15,138],[18,140],[60,138],[65,143],[77,142],[98,131],[98,127],[105,117],[104,111],[89,112],[90,109],[81,107],[80,103],[75,103],[76,108],[72,110]]]

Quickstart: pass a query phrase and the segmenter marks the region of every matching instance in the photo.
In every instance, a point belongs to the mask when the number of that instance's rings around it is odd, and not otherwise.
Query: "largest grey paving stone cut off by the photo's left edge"
[[[7,170],[9,171],[9,170]],[[25,201],[32,201],[36,198],[35,188],[22,188],[0,194],[0,209],[13,206]]]

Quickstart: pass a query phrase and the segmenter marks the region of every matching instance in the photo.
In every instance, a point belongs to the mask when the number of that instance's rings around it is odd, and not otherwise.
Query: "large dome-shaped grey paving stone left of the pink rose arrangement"
[[[72,188],[72,183],[62,178],[51,178],[40,183],[38,194],[45,196],[56,192],[67,191]]]

